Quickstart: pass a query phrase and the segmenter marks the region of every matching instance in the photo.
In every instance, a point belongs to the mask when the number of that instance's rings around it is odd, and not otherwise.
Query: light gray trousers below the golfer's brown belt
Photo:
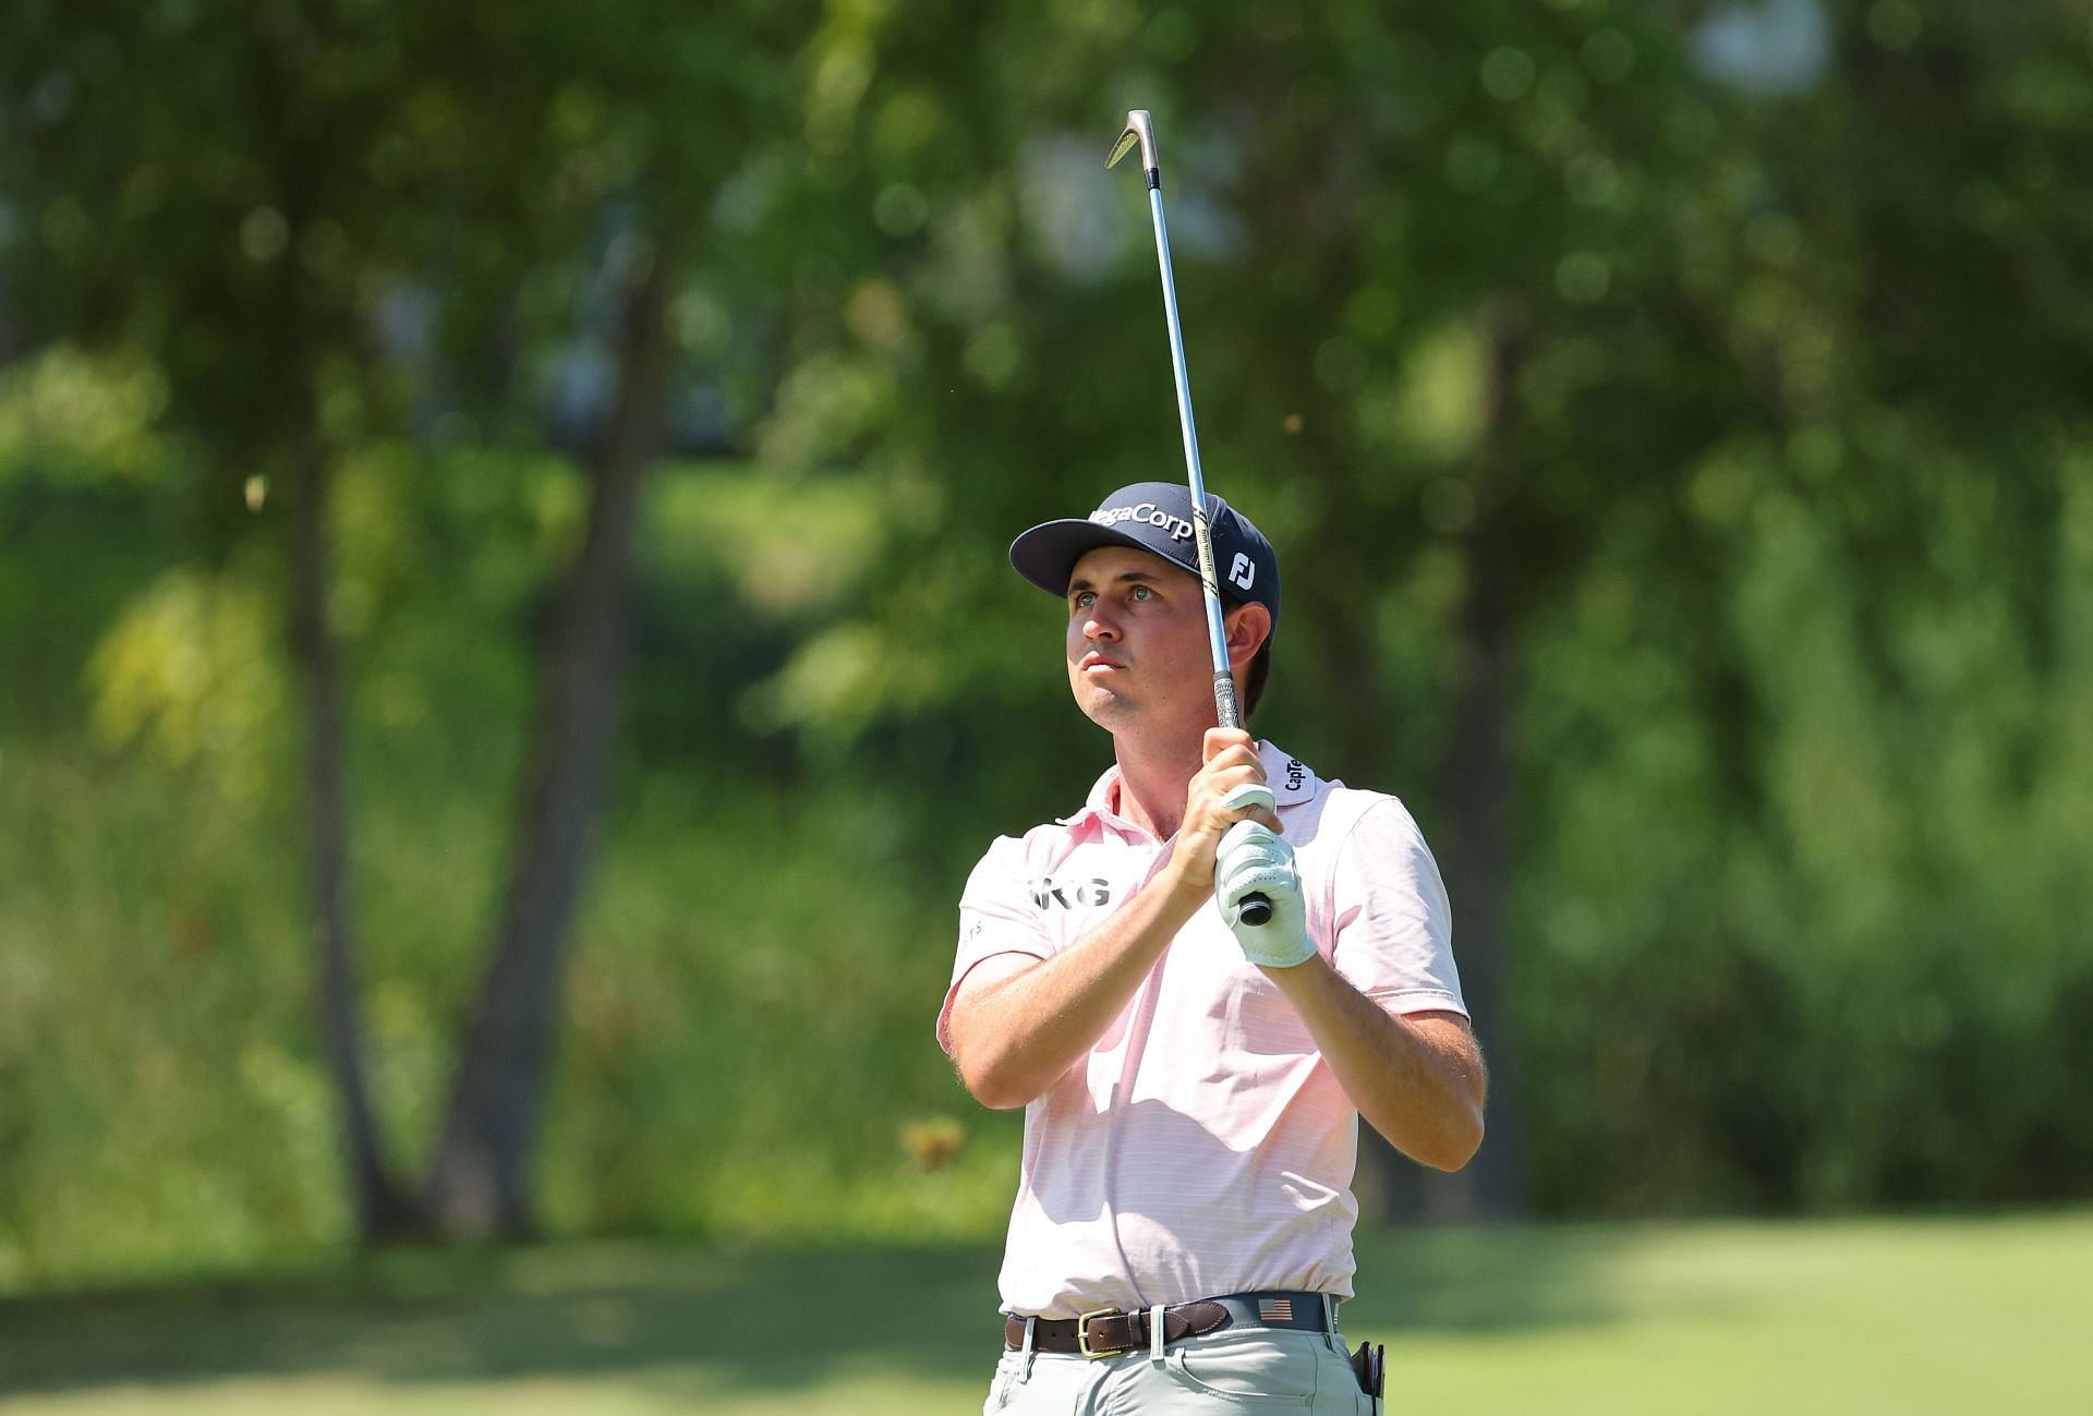
[[[1342,1334],[1222,1328],[1172,1343],[1162,1355],[1005,1351],[982,1416],[1377,1416],[1377,1406],[1358,1389]]]

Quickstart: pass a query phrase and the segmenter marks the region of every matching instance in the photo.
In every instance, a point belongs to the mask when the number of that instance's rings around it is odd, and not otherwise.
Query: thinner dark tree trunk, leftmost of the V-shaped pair
[[[350,1207],[364,1242],[398,1234],[406,1205],[385,1169],[364,1071],[364,1010],[350,906],[347,803],[341,782],[341,659],[327,623],[327,454],[310,429],[291,454],[291,657],[306,688],[306,855],[318,1008],[327,1065],[341,1102]]]

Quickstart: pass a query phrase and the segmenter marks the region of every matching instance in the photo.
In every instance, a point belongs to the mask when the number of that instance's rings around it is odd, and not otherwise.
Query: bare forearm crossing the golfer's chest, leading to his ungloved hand
[[[952,1006],[952,1052],[975,1100],[1023,1106],[1059,1081],[1105,1035],[1203,899],[1164,866],[1067,950],[1005,979],[963,985]]]

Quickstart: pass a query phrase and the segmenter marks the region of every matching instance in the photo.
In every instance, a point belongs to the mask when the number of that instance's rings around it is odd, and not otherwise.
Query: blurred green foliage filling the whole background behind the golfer
[[[1509,625],[1532,1203],[2085,1194],[2087,33],[2070,0],[10,8],[0,1282],[341,1234],[251,535],[297,399],[377,1090],[425,1144],[609,291],[661,230],[684,456],[548,1221],[994,1232],[1015,1117],[929,1023],[967,864],[1107,757],[1000,548],[1178,466],[1101,165],[1134,105],[1208,477],[1287,565],[1258,728],[1457,860],[1453,705],[1478,604]]]

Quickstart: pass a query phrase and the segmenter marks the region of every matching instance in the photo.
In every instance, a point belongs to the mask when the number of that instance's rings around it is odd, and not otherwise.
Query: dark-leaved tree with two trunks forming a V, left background
[[[793,98],[793,15],[276,0],[147,17],[27,6],[10,29],[8,128],[31,138],[10,190],[40,236],[15,251],[29,328],[165,370],[165,420],[209,469],[199,504],[220,544],[241,533],[243,498],[283,492],[270,508],[306,705],[316,996],[358,1226],[525,1232],[559,983],[609,784],[632,531],[676,379],[670,305],[714,255],[712,207],[749,134]],[[440,280],[450,333],[483,347],[523,282],[590,255],[607,209],[630,213],[609,261],[615,395],[582,456],[586,529],[540,650],[509,883],[417,1205],[383,1157],[362,1056],[331,487],[345,452],[404,431],[425,393],[375,337],[375,301]],[[463,397],[530,427],[513,356],[450,362]]]

